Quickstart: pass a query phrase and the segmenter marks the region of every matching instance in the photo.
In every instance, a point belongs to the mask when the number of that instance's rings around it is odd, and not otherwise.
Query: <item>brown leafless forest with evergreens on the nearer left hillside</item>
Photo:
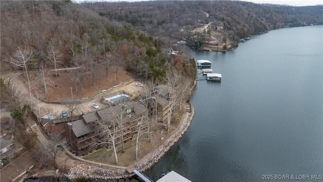
[[[32,77],[44,67],[78,67],[70,78],[80,86],[98,67],[106,72],[125,68],[142,79],[160,79],[175,68],[195,78],[188,48],[181,56],[169,55],[164,49],[172,45],[170,39],[134,30],[71,1],[1,1],[1,12],[2,71],[18,68]],[[26,58],[25,67],[11,64]]]

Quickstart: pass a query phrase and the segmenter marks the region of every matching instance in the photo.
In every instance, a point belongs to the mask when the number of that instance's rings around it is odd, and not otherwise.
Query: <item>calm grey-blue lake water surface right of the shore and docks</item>
[[[222,81],[197,81],[189,130],[144,173],[154,181],[171,170],[192,181],[260,181],[272,174],[270,181],[275,175],[289,175],[277,181],[301,181],[304,174],[305,181],[319,179],[322,34],[323,26],[284,28],[227,53],[193,50]]]

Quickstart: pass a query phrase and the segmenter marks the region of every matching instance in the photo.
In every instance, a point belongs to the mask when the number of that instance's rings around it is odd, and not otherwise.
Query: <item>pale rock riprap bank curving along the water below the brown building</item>
[[[194,117],[195,110],[190,106],[191,112],[186,112],[182,124],[163,144],[161,144],[152,154],[144,159],[142,162],[137,163],[136,168],[138,171],[145,171],[152,167],[158,160],[165,155],[165,153],[170,150],[170,148],[180,139],[183,134],[188,130],[191,121]],[[65,176],[69,179],[121,179],[130,177],[126,169],[102,169],[98,166],[87,166],[85,164],[80,164],[74,166],[70,169],[69,173]]]

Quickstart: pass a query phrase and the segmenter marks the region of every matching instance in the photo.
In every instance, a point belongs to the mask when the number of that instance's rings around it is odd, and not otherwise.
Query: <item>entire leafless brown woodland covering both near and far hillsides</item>
[[[123,67],[143,79],[163,78],[167,70],[176,69],[194,78],[195,63],[186,45],[201,47],[209,30],[221,32],[223,42],[236,45],[240,38],[284,26],[323,24],[323,6],[241,1],[0,3],[2,71],[17,68],[10,63],[28,55],[31,71],[40,66],[80,68],[71,71],[79,85],[86,74],[94,76],[97,67],[106,72]],[[205,24],[210,24],[209,30],[192,32]],[[182,39],[188,44],[177,45]],[[169,48],[180,56],[167,54]],[[109,70],[111,65],[116,70]]]

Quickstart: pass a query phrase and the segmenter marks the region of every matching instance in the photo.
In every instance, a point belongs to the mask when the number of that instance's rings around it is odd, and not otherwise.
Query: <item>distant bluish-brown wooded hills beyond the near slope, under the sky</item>
[[[151,35],[188,41],[194,28],[210,22],[210,30],[221,31],[223,41],[229,39],[233,44],[237,44],[240,38],[272,29],[323,24],[323,6],[292,7],[242,1],[99,2],[82,5],[100,16]],[[197,37],[205,41],[202,37],[205,34],[210,32],[199,32]],[[198,44],[189,45],[196,47]]]

